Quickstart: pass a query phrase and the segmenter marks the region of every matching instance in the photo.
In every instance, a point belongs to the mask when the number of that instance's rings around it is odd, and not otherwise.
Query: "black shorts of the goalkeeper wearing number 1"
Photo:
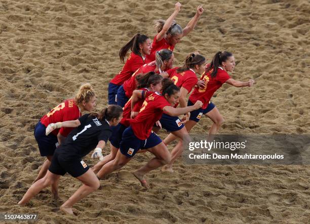
[[[59,153],[61,147],[55,150],[49,171],[56,175],[69,173],[73,177],[79,177],[89,170],[89,166],[79,156],[67,156]]]

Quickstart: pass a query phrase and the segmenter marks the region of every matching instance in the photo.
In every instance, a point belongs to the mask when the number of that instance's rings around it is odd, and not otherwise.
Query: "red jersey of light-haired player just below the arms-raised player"
[[[156,69],[156,61],[149,62],[148,64],[144,64],[135,73],[132,74],[131,78],[124,82],[123,88],[125,90],[125,94],[128,98],[132,96],[133,91],[137,88],[136,84],[136,75],[137,74],[145,74],[149,71],[159,72]]]

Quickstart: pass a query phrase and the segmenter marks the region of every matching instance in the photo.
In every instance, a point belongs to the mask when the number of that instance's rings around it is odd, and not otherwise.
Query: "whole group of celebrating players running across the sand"
[[[99,114],[82,116],[82,111],[90,112],[96,105],[93,87],[84,84],[74,99],[57,105],[36,124],[34,137],[41,156],[47,160],[19,205],[25,205],[47,186],[52,187],[54,198],[58,198],[59,178],[69,173],[83,183],[60,207],[65,213],[73,214],[73,204],[97,190],[99,179],[143,152],[150,152],[154,158],[136,170],[134,176],[149,188],[145,174],[159,167],[173,171],[173,162],[182,154],[183,145],[190,141],[188,132],[203,115],[213,121],[209,134],[217,133],[223,118],[210,101],[214,92],[224,83],[250,87],[254,80],[241,82],[230,78],[227,71],[234,70],[236,64],[234,56],[227,51],[217,52],[209,64],[198,52],[191,53],[183,66],[173,67],[175,45],[193,30],[204,11],[199,6],[196,15],[182,29],[174,21],[180,8],[181,4],[176,3],[166,21],[156,21],[158,34],[153,42],[146,35],[136,34],[120,50],[123,62],[127,52],[131,50],[131,53],[108,85],[107,108]],[[200,80],[196,74],[201,75]],[[170,132],[163,141],[156,134],[160,128]],[[175,139],[178,143],[170,153],[166,145]],[[102,148],[108,140],[110,154],[103,157]],[[94,148],[92,158],[100,161],[90,169],[82,158]]]

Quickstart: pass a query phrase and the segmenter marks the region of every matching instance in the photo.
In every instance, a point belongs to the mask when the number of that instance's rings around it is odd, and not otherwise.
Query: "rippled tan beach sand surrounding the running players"
[[[254,78],[253,88],[224,85],[213,98],[225,124],[220,133],[309,133],[310,4],[307,0],[183,1],[183,27],[198,5],[205,12],[195,31],[175,48],[176,65],[199,50],[234,53],[232,77]],[[309,166],[186,166],[175,173],[152,171],[145,191],[131,172],[150,155],[137,155],[101,181],[102,190],[63,215],[50,189],[17,202],[44,159],[33,137],[37,120],[90,82],[98,108],[122,64],[118,51],[136,32],[151,38],[152,21],[167,18],[174,2],[36,0],[0,1],[0,212],[38,213],[40,222],[309,223]],[[193,131],[207,133],[202,119]],[[165,137],[166,132],[161,132]],[[171,145],[169,148],[172,148]],[[105,154],[109,152],[106,147]],[[88,156],[85,161],[95,162]],[[61,178],[67,199],[80,185]]]

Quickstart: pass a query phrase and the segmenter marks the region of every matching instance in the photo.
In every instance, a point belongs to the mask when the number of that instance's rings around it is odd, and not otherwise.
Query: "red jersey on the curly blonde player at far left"
[[[67,99],[58,106],[55,106],[48,114],[41,118],[41,123],[47,127],[51,123],[64,122],[76,120],[82,116],[78,106],[76,106],[74,99]],[[60,128],[52,131],[54,135],[58,132],[66,137],[73,128]]]

